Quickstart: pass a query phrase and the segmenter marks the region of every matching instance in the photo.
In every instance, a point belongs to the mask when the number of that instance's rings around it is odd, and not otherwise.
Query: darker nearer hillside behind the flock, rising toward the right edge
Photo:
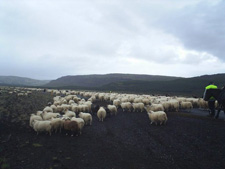
[[[225,85],[225,74],[179,78],[171,81],[126,81],[107,84],[102,86],[101,89],[202,97],[205,86],[207,86],[210,81],[213,81],[219,88],[221,88]]]

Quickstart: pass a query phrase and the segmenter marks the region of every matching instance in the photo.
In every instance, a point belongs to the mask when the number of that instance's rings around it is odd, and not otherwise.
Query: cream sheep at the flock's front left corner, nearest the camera
[[[34,120],[33,122],[33,129],[37,132],[37,135],[39,132],[48,132],[49,135],[51,136],[51,121],[37,121]]]

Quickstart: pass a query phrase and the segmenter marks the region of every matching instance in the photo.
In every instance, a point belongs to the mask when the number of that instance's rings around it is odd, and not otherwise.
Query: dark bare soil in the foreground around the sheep
[[[0,96],[0,168],[11,169],[224,169],[225,122],[169,112],[165,126],[146,112],[122,112],[78,137],[36,135],[29,116],[52,101],[48,93]],[[106,105],[106,103],[95,103]],[[221,112],[222,114],[222,112]]]

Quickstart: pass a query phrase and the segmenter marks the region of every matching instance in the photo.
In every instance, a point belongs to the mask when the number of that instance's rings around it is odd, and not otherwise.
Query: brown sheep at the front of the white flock
[[[76,121],[66,120],[63,124],[63,127],[64,130],[66,130],[66,135],[69,131],[71,132],[71,136],[73,136],[74,134],[78,136],[78,134],[80,133],[80,128]]]

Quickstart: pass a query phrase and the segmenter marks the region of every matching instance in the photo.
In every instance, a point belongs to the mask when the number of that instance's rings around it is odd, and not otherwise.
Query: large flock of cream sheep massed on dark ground
[[[30,116],[30,126],[37,132],[61,132],[80,135],[85,125],[92,125],[92,116],[96,113],[99,121],[106,116],[122,111],[147,112],[151,124],[166,124],[166,112],[207,108],[207,102],[201,98],[166,97],[138,94],[120,94],[86,91],[51,90],[56,95],[53,103],[48,103],[42,111]],[[79,97],[78,97],[79,96]],[[82,98],[82,99],[81,99]],[[93,104],[96,101],[109,103],[106,107]]]

